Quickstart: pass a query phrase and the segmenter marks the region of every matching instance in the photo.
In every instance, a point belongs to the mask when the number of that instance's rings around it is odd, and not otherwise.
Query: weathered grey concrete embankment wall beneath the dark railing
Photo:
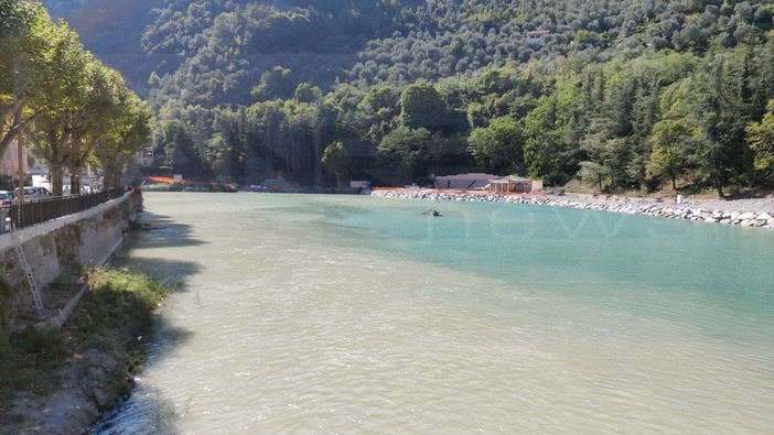
[[[17,231],[41,290],[43,305],[47,308],[44,318],[56,316],[62,311],[61,306],[46,304],[54,297],[46,294],[46,285],[74,265],[105,264],[120,248],[125,230],[141,200],[139,193],[127,193],[89,210]],[[36,316],[17,257],[11,235],[0,235],[0,276],[3,284],[0,289],[0,331],[12,330],[20,317]]]

